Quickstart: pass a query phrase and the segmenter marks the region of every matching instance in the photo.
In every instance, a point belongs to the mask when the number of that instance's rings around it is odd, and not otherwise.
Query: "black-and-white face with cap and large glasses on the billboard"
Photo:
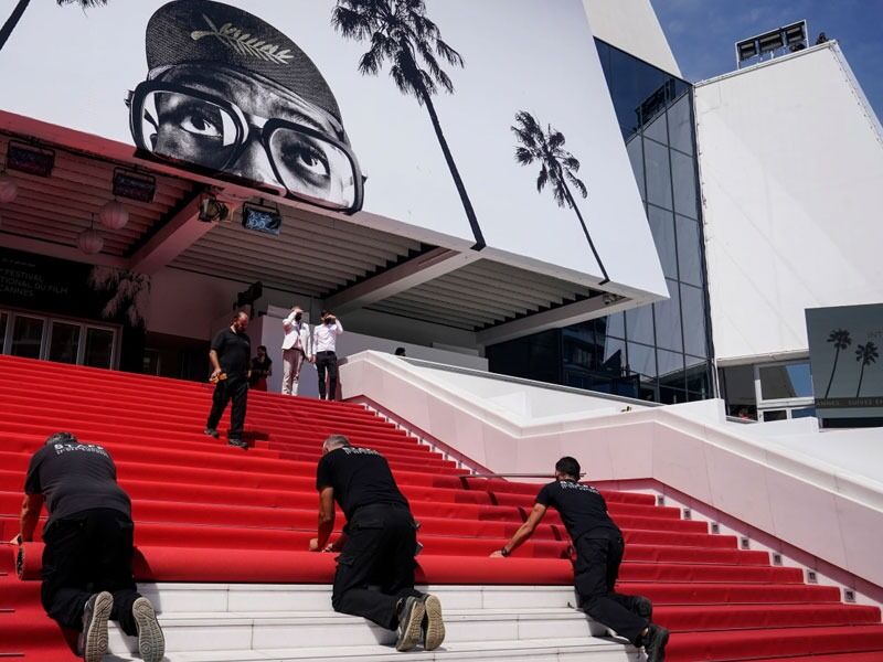
[[[316,65],[268,23],[210,0],[175,0],[147,29],[148,79],[130,94],[136,146],[354,213],[363,178]]]

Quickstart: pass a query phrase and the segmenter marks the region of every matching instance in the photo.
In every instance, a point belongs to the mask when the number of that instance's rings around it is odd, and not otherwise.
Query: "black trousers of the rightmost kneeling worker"
[[[636,613],[635,596],[614,591],[625,543],[619,535],[609,538],[576,541],[574,585],[583,610],[599,623],[615,630],[635,645],[641,643],[641,632],[648,620]]]

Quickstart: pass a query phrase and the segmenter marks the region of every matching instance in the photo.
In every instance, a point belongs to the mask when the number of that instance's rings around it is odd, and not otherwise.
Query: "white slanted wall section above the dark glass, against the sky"
[[[650,0],[583,0],[583,4],[599,40],[681,76]]]

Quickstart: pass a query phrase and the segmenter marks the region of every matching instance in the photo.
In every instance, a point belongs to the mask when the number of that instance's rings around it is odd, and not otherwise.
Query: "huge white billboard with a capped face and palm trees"
[[[582,0],[31,3],[0,76],[0,111],[666,296]]]

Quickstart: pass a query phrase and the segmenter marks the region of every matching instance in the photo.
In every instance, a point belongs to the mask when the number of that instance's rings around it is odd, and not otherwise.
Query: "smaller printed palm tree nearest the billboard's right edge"
[[[534,161],[539,161],[540,175],[536,178],[536,191],[541,192],[549,183],[552,186],[552,195],[558,206],[564,207],[566,205],[576,212],[576,217],[579,218],[579,225],[583,226],[583,233],[586,235],[592,254],[595,256],[600,267],[600,273],[604,275],[604,280],[598,285],[609,281],[607,269],[604,268],[604,263],[600,260],[592,236],[588,234],[583,214],[579,212],[579,207],[571,193],[571,188],[567,185],[567,182],[571,182],[579,195],[583,197],[588,195],[586,185],[576,177],[576,172],[579,170],[579,161],[564,149],[564,134],[553,129],[552,125],[549,125],[544,131],[536,118],[526,110],[515,114],[515,126],[512,127],[512,131],[521,143],[515,148],[515,161],[522,166],[530,166]]]

